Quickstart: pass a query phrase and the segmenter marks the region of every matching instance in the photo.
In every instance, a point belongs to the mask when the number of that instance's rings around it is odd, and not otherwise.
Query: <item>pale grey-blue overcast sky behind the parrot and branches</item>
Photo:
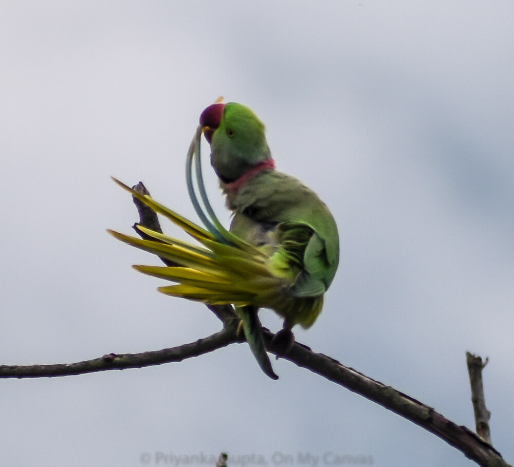
[[[0,363],[157,350],[219,329],[204,306],[157,293],[161,281],[130,267],[154,259],[105,229],[137,220],[111,175],[196,219],[186,152],[223,95],[261,117],[277,168],[339,226],[339,271],[297,340],[471,428],[465,351],[489,356],[492,440],[514,462],[514,4],[424,4],[2,2]],[[228,451],[270,467],[300,467],[299,453],[319,466],[327,453],[472,465],[344,388],[273,366],[278,381],[241,344],[2,380],[0,463],[172,465],[159,453]]]

